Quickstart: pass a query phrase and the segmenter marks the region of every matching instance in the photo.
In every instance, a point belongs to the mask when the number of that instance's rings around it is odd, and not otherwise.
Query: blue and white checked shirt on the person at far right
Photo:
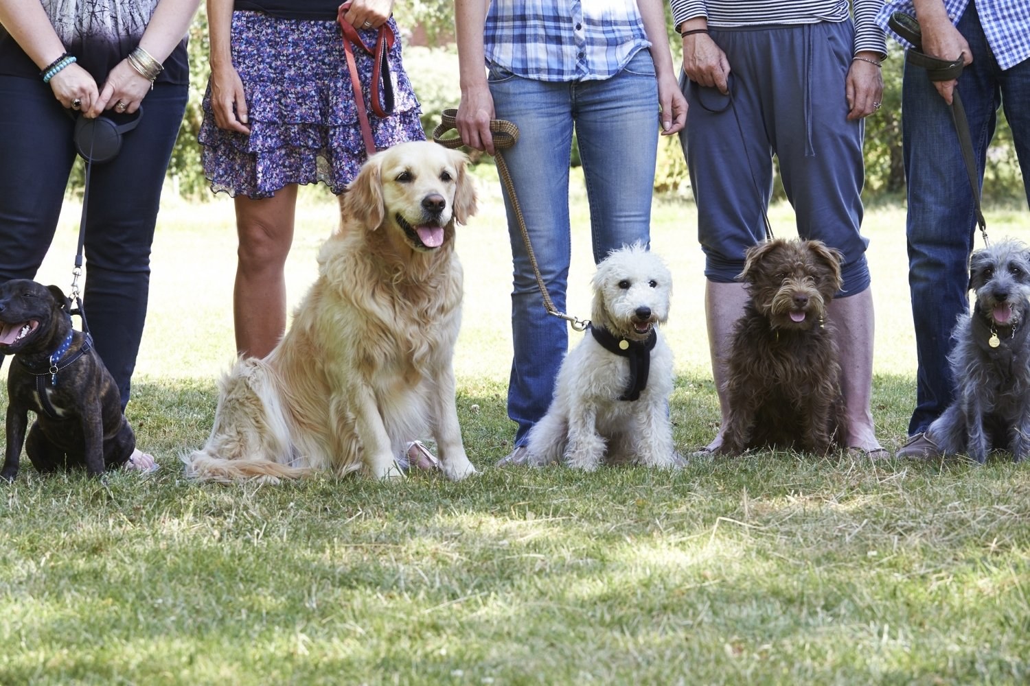
[[[959,23],[968,5],[969,0],[945,0],[952,24]],[[899,43],[912,47],[887,28],[891,12],[898,11],[916,16],[911,0],[889,0],[877,15],[877,24]],[[1030,0],[976,0],[976,13],[999,67],[1008,69],[1030,58]]]

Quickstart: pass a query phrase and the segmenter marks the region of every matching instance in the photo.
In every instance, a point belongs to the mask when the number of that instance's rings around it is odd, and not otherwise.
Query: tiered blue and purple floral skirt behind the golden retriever
[[[392,19],[388,26],[400,36]],[[359,33],[367,44],[375,39],[375,31]],[[237,11],[232,45],[250,135],[218,129],[208,82],[198,139],[211,190],[270,197],[290,183],[322,181],[334,193],[343,192],[367,154],[340,26]],[[372,111],[372,56],[358,47],[354,61],[376,147],[424,140],[418,100],[401,63],[400,37],[389,52],[394,103],[389,116]]]

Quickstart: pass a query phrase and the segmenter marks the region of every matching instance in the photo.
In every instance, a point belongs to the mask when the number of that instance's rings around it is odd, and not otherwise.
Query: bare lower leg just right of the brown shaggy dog
[[[872,397],[872,290],[835,298],[829,306],[840,351],[840,390],[848,418],[847,445],[864,450],[882,449],[877,440],[870,401]]]

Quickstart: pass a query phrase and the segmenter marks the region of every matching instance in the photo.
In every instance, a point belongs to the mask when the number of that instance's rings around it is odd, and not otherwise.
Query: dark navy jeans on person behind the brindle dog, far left
[[[96,350],[129,402],[150,283],[161,188],[188,86],[156,83],[139,125],[111,161],[94,165],[85,208],[85,311]],[[57,229],[75,149],[74,122],[39,79],[0,76],[0,282],[32,279]],[[110,112],[108,112],[110,114]],[[76,222],[77,230],[77,222]],[[74,254],[69,254],[68,281]]]

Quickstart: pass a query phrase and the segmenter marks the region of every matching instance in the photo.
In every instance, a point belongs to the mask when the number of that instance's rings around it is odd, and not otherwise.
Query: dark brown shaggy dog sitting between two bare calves
[[[729,352],[729,417],[719,453],[844,447],[844,398],[827,306],[840,290],[840,254],[819,241],[766,241],[748,250],[749,299]]]

